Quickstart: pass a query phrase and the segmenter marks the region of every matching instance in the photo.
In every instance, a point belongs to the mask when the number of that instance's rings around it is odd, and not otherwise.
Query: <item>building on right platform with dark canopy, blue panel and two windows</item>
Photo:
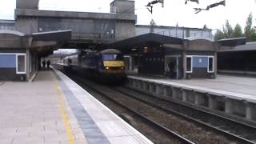
[[[240,39],[245,42],[245,38]],[[215,78],[217,51],[231,46],[229,40],[184,39],[162,34],[142,34],[107,47],[122,50],[126,70],[169,78]]]

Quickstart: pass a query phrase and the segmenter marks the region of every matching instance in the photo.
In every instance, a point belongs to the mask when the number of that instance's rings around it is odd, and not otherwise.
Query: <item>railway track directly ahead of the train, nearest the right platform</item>
[[[118,87],[114,90],[130,97],[136,98],[158,109],[166,110],[172,114],[176,114],[198,125],[206,126],[210,130],[214,130],[228,138],[234,139],[242,143],[256,143],[256,127],[246,123],[238,122],[232,119],[224,118],[206,111],[192,109],[183,106],[178,102],[167,101],[164,98],[158,98],[153,95],[144,94],[138,90],[131,90],[126,87]]]

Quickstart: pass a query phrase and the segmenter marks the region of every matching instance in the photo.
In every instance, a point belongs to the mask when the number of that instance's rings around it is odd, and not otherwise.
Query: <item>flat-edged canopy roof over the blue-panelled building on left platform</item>
[[[39,57],[52,54],[59,46],[71,38],[71,30],[57,30],[24,34],[15,30],[0,30],[0,50],[30,49],[38,52]]]

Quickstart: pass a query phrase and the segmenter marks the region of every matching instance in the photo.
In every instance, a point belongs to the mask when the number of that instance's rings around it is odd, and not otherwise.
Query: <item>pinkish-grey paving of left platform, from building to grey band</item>
[[[53,72],[41,71],[34,82],[5,82],[0,86],[1,144],[87,143],[69,106],[58,98],[54,79]],[[71,127],[66,126],[63,116]],[[75,138],[68,136],[68,130]]]

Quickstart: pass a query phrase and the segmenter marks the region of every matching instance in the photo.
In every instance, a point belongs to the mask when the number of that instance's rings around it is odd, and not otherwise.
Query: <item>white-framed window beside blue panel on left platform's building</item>
[[[26,54],[17,54],[16,61],[16,73],[26,74]]]

